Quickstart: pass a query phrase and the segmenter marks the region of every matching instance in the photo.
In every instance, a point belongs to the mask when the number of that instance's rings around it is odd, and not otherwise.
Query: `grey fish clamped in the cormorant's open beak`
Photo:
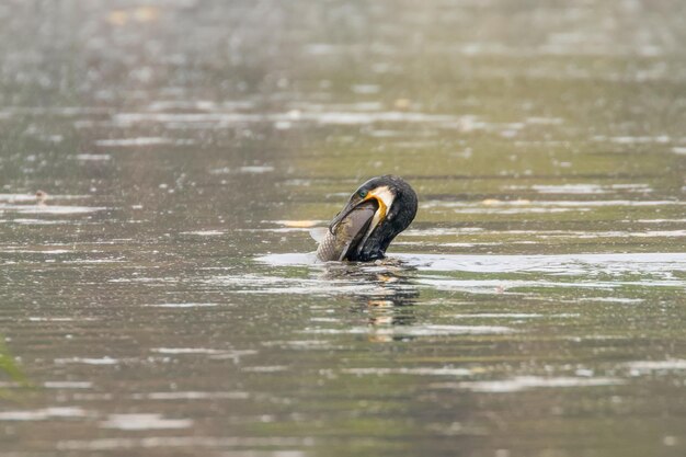
[[[367,233],[374,214],[378,209],[376,201],[365,202],[346,215],[332,230],[320,228],[310,235],[319,241],[317,260],[321,262],[342,261]],[[323,231],[323,232],[322,232]]]

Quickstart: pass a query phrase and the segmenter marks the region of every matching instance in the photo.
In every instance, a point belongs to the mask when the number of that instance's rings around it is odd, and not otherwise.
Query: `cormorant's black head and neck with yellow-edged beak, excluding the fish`
[[[345,254],[350,261],[369,261],[384,258],[386,249],[398,233],[403,231],[414,219],[418,199],[414,190],[398,176],[384,175],[373,178],[362,184],[351,195],[347,205],[333,218],[329,230],[335,227],[361,205],[373,202],[376,212],[366,232],[355,237],[359,241],[351,245]]]

